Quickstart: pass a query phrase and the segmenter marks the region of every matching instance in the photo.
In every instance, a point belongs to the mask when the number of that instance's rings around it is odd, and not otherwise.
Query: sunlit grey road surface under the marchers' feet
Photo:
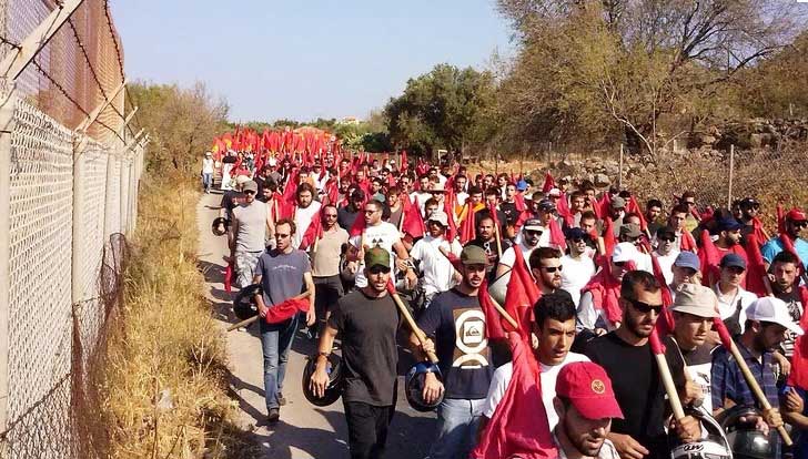
[[[199,259],[205,275],[205,296],[211,302],[212,314],[222,329],[236,319],[231,310],[231,294],[224,290],[224,261],[226,251],[224,236],[211,233],[211,222],[219,214],[215,207],[220,194],[203,195],[198,206],[200,232]],[[233,294],[235,288],[233,288]],[[257,326],[246,332],[228,333],[228,357],[232,371],[231,389],[241,407],[240,421],[243,428],[252,430],[261,446],[261,458],[347,458],[347,427],[342,401],[319,408],[306,401],[301,390],[305,357],[313,354],[315,343],[299,333],[292,344],[289,367],[283,387],[287,405],[281,408],[281,421],[267,427],[263,390],[263,364]],[[400,349],[398,387],[412,364],[407,351]],[[423,458],[428,452],[435,421],[434,414],[421,414],[407,405],[403,391],[398,390],[396,414],[387,439],[390,459]]]

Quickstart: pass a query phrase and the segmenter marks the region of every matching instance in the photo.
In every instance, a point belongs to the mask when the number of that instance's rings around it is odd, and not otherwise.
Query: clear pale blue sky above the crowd
[[[495,0],[113,0],[127,75],[203,81],[233,121],[364,118],[407,79],[512,50]]]

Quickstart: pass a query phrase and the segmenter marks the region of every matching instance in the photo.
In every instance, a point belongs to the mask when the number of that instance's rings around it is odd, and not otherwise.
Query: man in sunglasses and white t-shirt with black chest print
[[[410,288],[415,287],[415,271],[404,244],[401,242],[401,233],[394,225],[382,221],[384,204],[376,200],[365,203],[364,215],[357,218],[365,220],[365,228],[362,234],[351,237],[349,241],[347,258],[351,262],[358,262],[355,284],[357,288],[367,286],[367,277],[364,274],[364,252],[372,247],[382,247],[390,253],[391,269],[406,271]],[[397,261],[396,261],[397,257]]]

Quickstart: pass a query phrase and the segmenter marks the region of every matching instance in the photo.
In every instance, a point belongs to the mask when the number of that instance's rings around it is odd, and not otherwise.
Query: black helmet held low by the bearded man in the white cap
[[[736,459],[767,459],[775,456],[775,442],[772,436],[777,435],[775,429],[766,436],[755,428],[754,421],[741,420],[750,416],[760,417],[757,408],[748,405],[736,405],[718,415],[718,421],[727,432],[727,440],[733,448]]]

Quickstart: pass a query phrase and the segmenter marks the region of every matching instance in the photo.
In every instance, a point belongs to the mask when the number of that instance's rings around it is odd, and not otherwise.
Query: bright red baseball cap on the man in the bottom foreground
[[[568,398],[587,419],[623,419],[612,389],[612,379],[599,365],[576,361],[565,365],[556,379],[556,395]]]

